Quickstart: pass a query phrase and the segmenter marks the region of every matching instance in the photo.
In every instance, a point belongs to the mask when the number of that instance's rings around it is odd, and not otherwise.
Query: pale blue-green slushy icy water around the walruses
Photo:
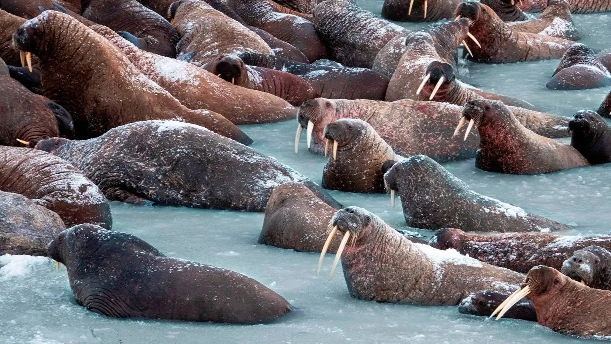
[[[378,14],[382,1],[359,1]],[[575,15],[592,48],[611,48],[611,13]],[[423,24],[401,24],[408,29]],[[463,81],[529,101],[566,116],[595,109],[609,89],[552,92],[545,89],[558,60],[513,65],[469,65]],[[324,158],[293,153],[296,123],[245,126],[252,148],[320,182]],[[571,234],[609,233],[611,165],[550,175],[508,176],[481,172],[474,160],[445,164],[475,191],[530,213],[576,225]],[[367,208],[395,228],[405,226],[400,206],[385,195],[331,192],[343,205]],[[400,205],[400,202],[398,202]],[[488,321],[460,315],[455,307],[417,307],[357,301],[341,273],[327,282],[332,257],[316,277],[317,254],[257,244],[262,213],[142,208],[112,204],[114,229],[139,236],[170,257],[232,269],[257,279],[295,307],[283,320],[258,326],[171,321],[115,320],[76,305],[65,268],[46,258],[0,257],[0,343],[574,343],[534,323]],[[423,233],[427,235],[428,233]],[[569,233],[567,233],[569,234]]]

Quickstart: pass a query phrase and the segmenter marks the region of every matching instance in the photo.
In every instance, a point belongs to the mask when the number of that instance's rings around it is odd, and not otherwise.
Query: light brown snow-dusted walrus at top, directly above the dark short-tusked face
[[[182,37],[176,47],[178,57],[194,52],[192,61],[205,64],[222,54],[274,54],[257,34],[203,1],[174,2],[168,13],[170,23]]]

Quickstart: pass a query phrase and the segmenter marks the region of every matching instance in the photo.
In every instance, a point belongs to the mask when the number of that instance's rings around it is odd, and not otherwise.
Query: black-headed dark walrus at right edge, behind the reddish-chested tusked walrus
[[[579,111],[569,122],[571,147],[592,165],[611,163],[611,127],[596,112]]]

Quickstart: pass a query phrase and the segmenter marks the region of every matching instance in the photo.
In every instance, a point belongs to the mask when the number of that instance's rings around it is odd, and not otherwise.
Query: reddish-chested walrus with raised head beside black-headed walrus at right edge
[[[475,167],[502,174],[532,175],[585,167],[590,164],[570,145],[560,144],[524,128],[499,101],[474,100],[464,106],[456,127],[469,123],[465,137],[475,125],[480,150]]]

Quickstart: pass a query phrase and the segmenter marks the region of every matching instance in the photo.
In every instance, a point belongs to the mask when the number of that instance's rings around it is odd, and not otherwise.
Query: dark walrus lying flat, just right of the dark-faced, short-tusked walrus
[[[287,71],[310,82],[327,99],[384,100],[389,78],[366,68],[341,68],[309,65],[278,56],[243,53],[240,59],[247,65]],[[367,85],[367,87],[363,87]]]

